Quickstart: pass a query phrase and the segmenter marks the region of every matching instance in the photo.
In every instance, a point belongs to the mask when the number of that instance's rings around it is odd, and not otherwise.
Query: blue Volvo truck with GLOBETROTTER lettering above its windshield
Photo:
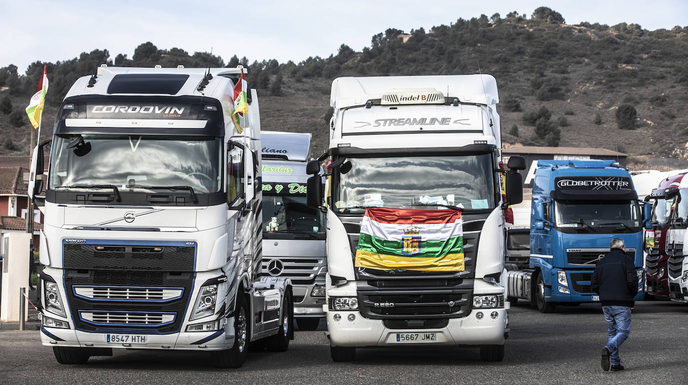
[[[595,264],[623,239],[635,261],[643,299],[643,227],[649,203],[638,201],[631,175],[613,160],[540,160],[530,208],[530,259],[506,265],[508,298],[530,300],[542,313],[557,305],[599,301]]]

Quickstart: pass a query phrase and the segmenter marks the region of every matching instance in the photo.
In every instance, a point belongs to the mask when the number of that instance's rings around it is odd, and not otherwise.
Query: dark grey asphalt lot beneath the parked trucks
[[[636,303],[621,372],[600,368],[599,305],[557,311],[512,307],[503,362],[482,362],[467,347],[367,348],[354,362],[332,362],[321,322],[297,331],[286,353],[250,352],[240,369],[215,369],[204,352],[120,349],[61,365],[38,331],[0,331],[0,384],[688,384],[687,305]]]

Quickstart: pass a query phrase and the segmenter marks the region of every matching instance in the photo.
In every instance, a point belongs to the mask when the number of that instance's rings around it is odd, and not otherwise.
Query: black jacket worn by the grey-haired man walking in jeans
[[[597,261],[592,274],[592,292],[600,295],[602,306],[633,306],[638,294],[638,275],[634,261],[621,249],[612,249]]]

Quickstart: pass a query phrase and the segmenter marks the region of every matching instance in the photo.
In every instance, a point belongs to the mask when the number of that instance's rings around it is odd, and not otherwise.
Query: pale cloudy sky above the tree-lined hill
[[[418,0],[0,0],[0,67],[25,72],[34,61],[56,62],[81,52],[108,50],[129,58],[141,43],[280,63],[336,54],[341,44],[356,51],[387,28],[430,30],[459,18],[512,11],[530,17],[547,6],[566,19],[646,30],[688,25],[686,0],[418,1]]]

